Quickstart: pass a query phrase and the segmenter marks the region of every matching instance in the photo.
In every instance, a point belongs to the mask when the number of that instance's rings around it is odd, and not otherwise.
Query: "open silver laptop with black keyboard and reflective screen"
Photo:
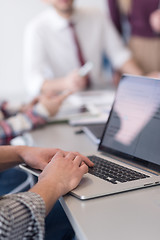
[[[160,80],[122,76],[98,151],[89,156],[95,166],[71,194],[86,200],[160,184],[159,143]]]

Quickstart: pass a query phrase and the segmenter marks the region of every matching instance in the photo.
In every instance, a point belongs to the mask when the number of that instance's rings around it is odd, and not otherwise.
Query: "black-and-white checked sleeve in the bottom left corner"
[[[0,239],[44,239],[45,204],[36,193],[0,198]]]

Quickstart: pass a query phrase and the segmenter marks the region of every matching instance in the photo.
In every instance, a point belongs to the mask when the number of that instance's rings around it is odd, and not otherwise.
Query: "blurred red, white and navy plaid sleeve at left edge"
[[[32,130],[46,123],[49,113],[46,108],[37,103],[25,113],[0,121],[0,145],[9,144],[10,140],[26,131]]]

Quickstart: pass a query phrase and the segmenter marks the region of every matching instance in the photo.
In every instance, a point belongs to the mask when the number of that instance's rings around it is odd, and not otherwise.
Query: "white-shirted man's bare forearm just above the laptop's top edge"
[[[119,70],[121,73],[143,75],[142,69],[136,64],[133,59],[129,59],[127,62],[125,62]]]

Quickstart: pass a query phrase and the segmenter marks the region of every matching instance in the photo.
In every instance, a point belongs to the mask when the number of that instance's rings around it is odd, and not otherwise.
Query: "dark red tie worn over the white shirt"
[[[75,30],[74,23],[69,22],[69,27],[72,31],[75,46],[77,48],[77,56],[78,56],[79,63],[80,63],[81,66],[83,66],[85,64],[85,60],[84,60],[84,57],[83,57],[83,53],[81,51],[81,47],[80,47],[80,44],[79,44],[79,40],[78,40],[78,37],[77,37],[77,33],[76,33],[76,30]],[[88,88],[91,85],[91,81],[90,81],[89,77],[87,78],[86,81],[87,81],[86,82],[86,88]]]

